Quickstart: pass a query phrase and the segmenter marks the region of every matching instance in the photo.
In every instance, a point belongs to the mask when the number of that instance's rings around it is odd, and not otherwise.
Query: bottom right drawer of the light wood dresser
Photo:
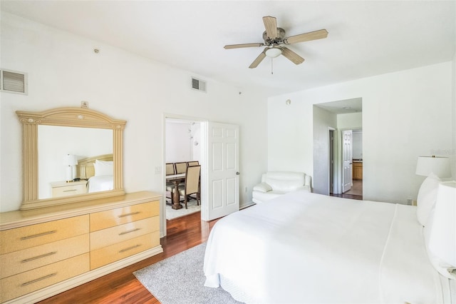
[[[90,270],[160,245],[159,231],[90,252]]]

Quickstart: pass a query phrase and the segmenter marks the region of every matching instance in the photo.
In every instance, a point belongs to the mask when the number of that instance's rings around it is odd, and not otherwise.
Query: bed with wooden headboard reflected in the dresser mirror
[[[113,190],[113,154],[79,160],[77,176],[88,181],[88,193]]]

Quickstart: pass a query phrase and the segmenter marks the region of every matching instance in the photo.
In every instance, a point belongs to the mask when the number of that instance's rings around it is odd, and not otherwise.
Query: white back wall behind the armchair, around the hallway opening
[[[416,198],[423,182],[415,176],[417,157],[452,149],[452,65],[445,62],[269,98],[269,170],[313,172],[312,106],[361,97],[364,198],[397,203]],[[285,105],[286,99],[291,106]]]

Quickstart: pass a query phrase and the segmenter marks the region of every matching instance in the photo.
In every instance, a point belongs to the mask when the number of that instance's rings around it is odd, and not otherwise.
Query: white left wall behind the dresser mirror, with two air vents
[[[15,111],[78,107],[81,101],[127,121],[127,192],[163,190],[161,173],[154,174],[154,168],[165,163],[163,113],[238,124],[241,205],[252,201],[252,186],[267,163],[266,96],[261,92],[235,88],[4,12],[0,56],[1,68],[28,73],[28,96],[0,93],[1,211],[19,209],[22,200],[21,125]],[[190,88],[191,76],[207,81],[207,93]]]

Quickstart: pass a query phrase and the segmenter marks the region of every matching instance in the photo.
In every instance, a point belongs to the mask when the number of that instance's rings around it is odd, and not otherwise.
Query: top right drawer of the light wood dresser
[[[90,231],[97,231],[120,224],[130,223],[159,214],[160,203],[140,203],[123,208],[115,208],[90,214]]]

